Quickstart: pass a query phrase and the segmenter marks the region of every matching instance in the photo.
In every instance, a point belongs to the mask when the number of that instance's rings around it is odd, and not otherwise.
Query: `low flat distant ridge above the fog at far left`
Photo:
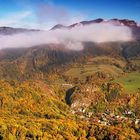
[[[37,29],[26,29],[26,28],[12,28],[12,27],[0,27],[0,35],[11,35],[23,32],[35,32]]]

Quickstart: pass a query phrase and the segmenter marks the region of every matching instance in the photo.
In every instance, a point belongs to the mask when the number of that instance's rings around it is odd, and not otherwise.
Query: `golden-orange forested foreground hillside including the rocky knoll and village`
[[[97,83],[94,77],[93,82],[88,79],[73,90],[42,81],[1,80],[0,138],[139,139],[139,93],[123,93],[118,84],[104,85],[104,78]]]

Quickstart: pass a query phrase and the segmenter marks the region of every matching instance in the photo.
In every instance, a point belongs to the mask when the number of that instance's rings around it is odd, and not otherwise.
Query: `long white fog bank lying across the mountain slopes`
[[[42,44],[63,44],[68,49],[83,49],[82,42],[126,42],[133,40],[129,27],[107,23],[79,25],[72,29],[28,32],[0,36],[0,49],[32,47]]]

